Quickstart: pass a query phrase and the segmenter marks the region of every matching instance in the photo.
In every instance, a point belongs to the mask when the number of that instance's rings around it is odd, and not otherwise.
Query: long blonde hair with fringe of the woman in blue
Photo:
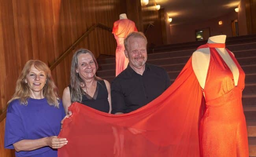
[[[48,104],[56,108],[59,108],[60,100],[57,94],[57,87],[54,84],[54,81],[52,79],[51,70],[44,62],[40,60],[29,60],[28,62],[26,62],[16,82],[15,93],[13,94],[11,100],[7,102],[7,104],[9,104],[11,101],[16,99],[19,99],[20,104],[23,104],[23,105],[28,104],[27,99],[30,97],[31,91],[30,91],[30,87],[25,82],[25,80],[32,66],[34,66],[38,70],[45,72],[46,83],[45,83],[45,86],[43,87],[43,96],[47,99]]]

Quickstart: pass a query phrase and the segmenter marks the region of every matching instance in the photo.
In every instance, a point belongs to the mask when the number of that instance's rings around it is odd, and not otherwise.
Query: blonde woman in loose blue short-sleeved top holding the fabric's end
[[[7,102],[4,147],[18,157],[57,157],[67,144],[58,138],[65,116],[51,71],[40,60],[29,60],[20,74],[15,93]]]

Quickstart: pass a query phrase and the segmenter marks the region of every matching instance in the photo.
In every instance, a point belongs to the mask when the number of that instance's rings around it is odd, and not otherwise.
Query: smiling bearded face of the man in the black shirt
[[[127,51],[124,53],[129,59],[129,65],[134,69],[145,67],[147,61],[147,44],[143,38],[130,37],[128,39]]]

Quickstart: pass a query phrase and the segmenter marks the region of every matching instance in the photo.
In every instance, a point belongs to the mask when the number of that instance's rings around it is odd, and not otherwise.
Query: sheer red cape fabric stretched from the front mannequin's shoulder
[[[202,89],[187,62],[175,82],[158,98],[122,115],[79,103],[69,110],[59,137],[68,144],[59,157],[198,157]]]

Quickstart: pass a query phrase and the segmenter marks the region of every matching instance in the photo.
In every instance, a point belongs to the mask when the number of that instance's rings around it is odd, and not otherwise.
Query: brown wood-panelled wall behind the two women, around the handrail
[[[126,13],[124,0],[0,0],[0,113],[28,60],[52,64],[89,27],[96,23],[113,27],[121,13]],[[96,57],[115,55],[116,41],[111,32],[96,28],[79,47]],[[72,55],[52,71],[60,96],[69,84]],[[13,152],[3,148],[4,123],[0,122],[0,157],[11,157]]]

